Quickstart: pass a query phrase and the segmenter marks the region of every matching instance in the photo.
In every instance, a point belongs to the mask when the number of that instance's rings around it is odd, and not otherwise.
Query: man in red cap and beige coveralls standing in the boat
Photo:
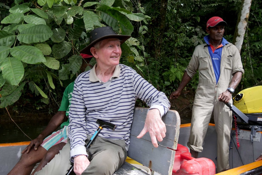
[[[211,114],[214,115],[217,132],[217,172],[229,169],[229,142],[232,128],[232,112],[225,103],[233,103],[232,93],[244,73],[238,49],[223,34],[226,22],[218,16],[206,24],[205,44],[198,45],[185,69],[181,84],[171,93],[177,99],[184,87],[199,71],[198,87],[192,108],[191,131],[188,147],[192,157],[202,152],[203,141]]]

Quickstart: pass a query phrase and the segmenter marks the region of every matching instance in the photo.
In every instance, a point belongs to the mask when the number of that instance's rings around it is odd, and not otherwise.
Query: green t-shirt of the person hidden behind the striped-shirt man
[[[72,100],[72,94],[73,94],[73,90],[74,90],[74,82],[71,82],[65,89],[64,93],[63,93],[63,98],[61,101],[61,105],[58,111],[66,111],[66,116],[68,117],[69,115],[69,109],[71,106],[71,100]],[[66,122],[61,124],[61,128],[63,128],[64,126],[67,126],[69,124],[69,118]]]

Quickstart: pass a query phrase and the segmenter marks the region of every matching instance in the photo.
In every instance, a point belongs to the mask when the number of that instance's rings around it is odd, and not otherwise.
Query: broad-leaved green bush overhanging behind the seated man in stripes
[[[79,51],[89,43],[91,30],[111,26],[119,34],[131,35],[131,21],[147,23],[149,19],[137,12],[139,4],[129,1],[81,3],[17,0],[10,5],[0,4],[5,9],[0,26],[1,108],[19,99],[20,104],[28,103],[29,96],[44,104],[57,101],[63,94],[61,87],[74,81],[81,67]],[[143,61],[137,45],[133,37],[122,44],[122,58]]]

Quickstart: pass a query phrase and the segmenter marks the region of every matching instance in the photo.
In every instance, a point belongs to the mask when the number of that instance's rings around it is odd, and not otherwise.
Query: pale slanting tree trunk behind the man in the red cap
[[[248,22],[251,2],[252,0],[242,0],[240,13],[238,14],[238,20],[237,20],[236,30],[233,38],[233,43],[236,45],[239,53],[241,51],[245,32],[246,32],[246,26]]]

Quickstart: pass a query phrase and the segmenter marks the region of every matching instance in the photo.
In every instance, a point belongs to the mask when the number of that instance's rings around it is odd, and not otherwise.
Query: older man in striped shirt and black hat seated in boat
[[[167,96],[135,70],[119,64],[120,45],[130,37],[116,34],[109,26],[90,32],[90,44],[80,52],[93,55],[97,64],[80,74],[74,82],[68,125],[70,144],[66,144],[37,175],[64,175],[71,162],[76,175],[112,175],[126,159],[133,110],[138,98],[150,107],[138,138],[149,132],[155,147],[158,146],[157,140],[163,140],[166,127],[161,117],[170,108]],[[115,124],[116,129],[103,129],[86,151],[85,144],[98,128],[97,119]]]

